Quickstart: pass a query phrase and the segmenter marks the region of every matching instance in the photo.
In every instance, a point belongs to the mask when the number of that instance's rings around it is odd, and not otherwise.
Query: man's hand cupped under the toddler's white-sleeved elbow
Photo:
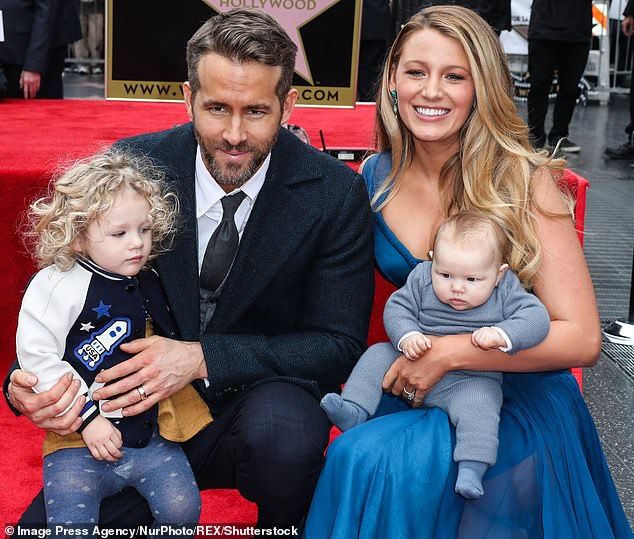
[[[37,376],[30,372],[15,370],[10,380],[9,402],[36,427],[64,436],[75,432],[81,425],[79,414],[86,404],[83,395],[64,415],[59,415],[70,406],[81,387],[79,380],[73,380],[72,374],[65,374],[51,389],[42,393],[33,392]]]

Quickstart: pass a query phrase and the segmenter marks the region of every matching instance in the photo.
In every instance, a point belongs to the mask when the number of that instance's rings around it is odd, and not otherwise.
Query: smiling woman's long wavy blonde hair
[[[459,6],[429,7],[414,15],[396,37],[377,95],[379,150],[391,152],[392,170],[375,193],[373,207],[380,211],[394,197],[402,172],[412,162],[413,137],[394,114],[390,81],[405,43],[412,34],[425,29],[460,43],[475,87],[474,108],[461,130],[459,150],[441,171],[445,214],[474,210],[497,222],[511,246],[506,262],[530,288],[542,259],[532,213],[536,207],[533,176],[538,167],[543,167],[559,179],[565,162],[532,147],[528,128],[517,115],[512,79],[499,39],[475,12]],[[379,203],[388,190],[388,196]]]

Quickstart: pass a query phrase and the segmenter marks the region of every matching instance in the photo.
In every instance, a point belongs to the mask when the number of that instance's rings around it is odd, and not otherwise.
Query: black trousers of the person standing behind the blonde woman
[[[579,97],[579,81],[585,70],[589,51],[589,40],[528,40],[528,72],[531,83],[528,91],[528,127],[535,147],[541,148],[546,142],[544,123],[555,69],[559,73],[559,91],[548,140],[556,143],[560,138],[568,136],[568,126]]]

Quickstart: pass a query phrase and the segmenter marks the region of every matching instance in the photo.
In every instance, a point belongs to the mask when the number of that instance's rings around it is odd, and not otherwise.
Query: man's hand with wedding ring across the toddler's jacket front
[[[123,408],[124,416],[140,414],[192,380],[207,376],[205,357],[198,342],[174,341],[155,335],[122,344],[121,349],[136,355],[100,372],[95,378],[105,383],[117,380],[92,395],[94,400],[120,395],[102,405],[104,412]],[[140,387],[143,391],[137,389]]]

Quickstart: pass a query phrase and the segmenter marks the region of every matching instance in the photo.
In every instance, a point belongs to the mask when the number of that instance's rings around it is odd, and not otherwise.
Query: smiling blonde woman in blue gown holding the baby
[[[592,419],[568,369],[595,364],[600,324],[590,276],[557,188],[564,162],[535,153],[517,116],[506,59],[473,12],[431,7],[396,38],[377,99],[382,152],[363,167],[379,270],[401,286],[428,258],[447,215],[481,211],[512,243],[507,262],[551,317],[548,337],[509,356],[468,335],[436,337],[384,379],[382,415],[328,451],[305,536],[632,537]],[[504,371],[497,463],[484,496],[453,491],[454,431],[414,407],[448,371]],[[517,374],[515,374],[517,373]],[[397,398],[398,397],[398,398]],[[400,413],[388,412],[401,411]],[[405,411],[406,410],[406,411]]]

